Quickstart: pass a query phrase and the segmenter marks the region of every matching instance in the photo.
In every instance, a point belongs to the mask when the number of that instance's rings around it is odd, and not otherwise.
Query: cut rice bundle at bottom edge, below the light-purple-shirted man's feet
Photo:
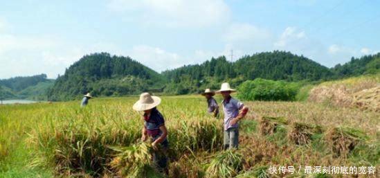
[[[206,177],[234,177],[243,168],[243,156],[235,149],[220,152],[210,162]]]

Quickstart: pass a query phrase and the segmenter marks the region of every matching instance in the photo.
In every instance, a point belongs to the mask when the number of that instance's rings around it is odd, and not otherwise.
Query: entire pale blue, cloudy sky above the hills
[[[0,0],[0,78],[63,75],[90,53],[161,72],[290,51],[327,67],[380,51],[379,0]],[[233,56],[231,57],[231,50]]]

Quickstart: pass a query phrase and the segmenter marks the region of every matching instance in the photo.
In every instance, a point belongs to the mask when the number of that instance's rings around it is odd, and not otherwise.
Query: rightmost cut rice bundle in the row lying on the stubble
[[[356,145],[368,139],[363,132],[347,127],[335,127],[329,130],[325,139],[335,157],[347,157]]]

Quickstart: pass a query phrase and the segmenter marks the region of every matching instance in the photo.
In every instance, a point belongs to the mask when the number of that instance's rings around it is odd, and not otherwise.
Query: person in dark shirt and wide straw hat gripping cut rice
[[[146,141],[147,136],[150,137],[152,148],[154,149],[152,155],[154,166],[156,166],[160,172],[164,172],[168,175],[168,131],[166,130],[163,116],[156,108],[160,103],[161,98],[143,93],[140,95],[140,100],[134,103],[133,109],[138,112],[144,112],[144,127],[141,140]]]

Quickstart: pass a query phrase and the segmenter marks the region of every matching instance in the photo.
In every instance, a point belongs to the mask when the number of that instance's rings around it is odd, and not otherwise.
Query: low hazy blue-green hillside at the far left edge
[[[46,92],[54,80],[46,74],[0,80],[0,98],[46,100]]]

